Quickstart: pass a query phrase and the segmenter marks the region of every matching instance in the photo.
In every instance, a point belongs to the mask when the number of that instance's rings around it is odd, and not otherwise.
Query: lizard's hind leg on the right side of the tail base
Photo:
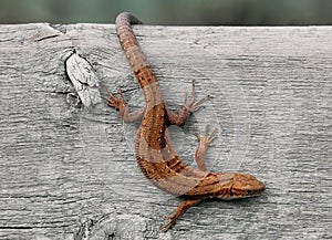
[[[167,117],[170,125],[181,126],[184,125],[191,113],[199,109],[199,104],[206,98],[206,96],[199,98],[198,101],[195,100],[195,81],[193,80],[193,93],[191,100],[187,103],[187,97],[185,97],[184,106],[180,108],[179,113],[176,114],[173,111],[167,111]]]

